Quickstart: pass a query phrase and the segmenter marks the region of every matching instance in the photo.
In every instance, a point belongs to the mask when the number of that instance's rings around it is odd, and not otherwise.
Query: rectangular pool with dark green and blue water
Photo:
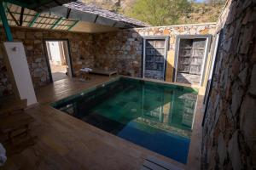
[[[52,104],[108,133],[187,162],[195,88],[119,77]]]

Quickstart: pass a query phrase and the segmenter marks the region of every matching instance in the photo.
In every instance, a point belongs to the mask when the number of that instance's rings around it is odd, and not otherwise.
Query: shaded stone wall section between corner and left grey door
[[[133,30],[94,35],[96,68],[118,70],[120,74],[140,77],[143,39]]]

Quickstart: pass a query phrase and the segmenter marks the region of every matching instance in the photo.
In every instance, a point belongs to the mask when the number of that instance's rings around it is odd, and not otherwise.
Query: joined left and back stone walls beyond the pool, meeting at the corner
[[[172,82],[176,36],[213,34],[215,24],[146,27],[97,34],[18,27],[12,27],[11,31],[15,41],[24,43],[32,82],[34,88],[39,88],[49,83],[44,39],[68,39],[75,75],[82,67],[96,67],[117,69],[122,75],[142,77],[143,36],[170,37],[166,81]],[[0,41],[6,41],[3,27],[0,34]],[[0,96],[11,94],[11,84],[4,71],[1,54],[0,68]]]

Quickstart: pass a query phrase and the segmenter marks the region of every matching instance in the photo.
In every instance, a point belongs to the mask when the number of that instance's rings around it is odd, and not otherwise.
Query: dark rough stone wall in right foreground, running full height
[[[256,168],[256,1],[228,1],[202,139],[202,169]]]

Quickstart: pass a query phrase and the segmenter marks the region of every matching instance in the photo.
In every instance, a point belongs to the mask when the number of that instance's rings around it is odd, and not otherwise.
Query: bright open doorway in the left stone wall
[[[45,40],[51,82],[73,77],[67,40]]]

